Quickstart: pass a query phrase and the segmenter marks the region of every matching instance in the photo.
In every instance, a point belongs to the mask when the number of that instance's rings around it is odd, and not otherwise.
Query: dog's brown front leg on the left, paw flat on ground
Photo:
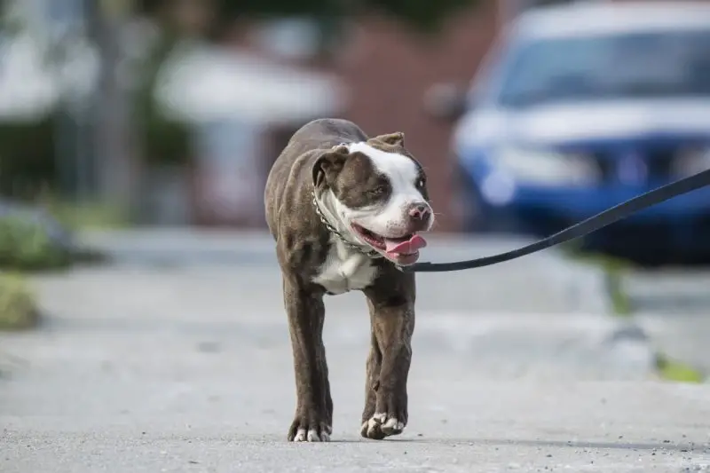
[[[288,276],[283,280],[283,293],[296,371],[296,416],[288,429],[288,441],[327,442],[333,431],[333,400],[322,337],[323,295],[306,290]]]

